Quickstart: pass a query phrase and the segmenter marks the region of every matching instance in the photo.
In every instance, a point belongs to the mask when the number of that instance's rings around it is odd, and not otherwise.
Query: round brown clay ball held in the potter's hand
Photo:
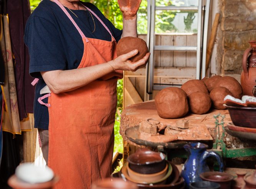
[[[119,40],[116,46],[117,56],[131,52],[132,50],[137,49],[139,52],[134,57],[130,58],[130,61],[138,61],[145,57],[149,52],[147,44],[143,39],[138,37],[123,37]]]

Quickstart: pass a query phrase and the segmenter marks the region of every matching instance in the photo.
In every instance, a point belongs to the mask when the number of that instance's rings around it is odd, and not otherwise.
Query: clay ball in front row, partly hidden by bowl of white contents
[[[232,95],[226,87],[216,87],[211,90],[210,98],[215,109],[226,110],[226,107],[223,106],[226,95]]]

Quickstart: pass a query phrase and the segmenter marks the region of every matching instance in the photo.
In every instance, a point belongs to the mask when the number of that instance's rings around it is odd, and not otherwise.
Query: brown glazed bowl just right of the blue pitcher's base
[[[234,176],[218,171],[208,171],[200,174],[201,179],[220,184],[220,189],[231,189],[231,182]]]

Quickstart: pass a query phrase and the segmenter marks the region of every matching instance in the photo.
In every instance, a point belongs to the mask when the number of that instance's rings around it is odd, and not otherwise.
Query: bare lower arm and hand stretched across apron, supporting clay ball
[[[41,75],[53,93],[67,92],[85,86],[112,71],[136,71],[143,68],[149,59],[149,53],[137,62],[128,60],[137,53],[138,50],[133,50],[107,63],[79,69],[46,71],[41,72]]]

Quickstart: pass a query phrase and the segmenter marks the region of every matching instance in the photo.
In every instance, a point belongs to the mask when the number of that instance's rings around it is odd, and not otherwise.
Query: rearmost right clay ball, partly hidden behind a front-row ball
[[[230,76],[219,78],[214,85],[216,87],[226,87],[236,99],[241,99],[243,96],[243,89],[240,83]]]

